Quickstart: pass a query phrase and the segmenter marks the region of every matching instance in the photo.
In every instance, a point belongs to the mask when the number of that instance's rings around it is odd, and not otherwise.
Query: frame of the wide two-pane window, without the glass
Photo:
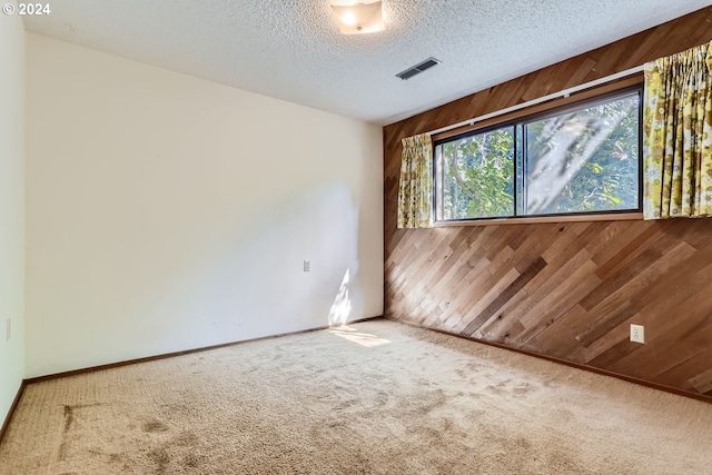
[[[611,101],[616,97],[624,97],[631,93],[637,93],[640,107],[639,107],[639,135],[637,135],[637,208],[636,209],[621,209],[621,210],[599,210],[599,211],[576,211],[576,212],[561,212],[561,214],[541,214],[541,215],[516,215],[517,200],[522,199],[518,190],[517,174],[524,174],[525,159],[523,157],[522,169],[517,170],[517,144],[513,148],[513,177],[514,177],[514,192],[513,192],[513,216],[506,217],[481,217],[481,218],[461,218],[461,219],[441,219],[438,217],[439,200],[442,200],[442,179],[439,175],[443,172],[442,164],[438,164],[437,146],[458,140],[465,137],[471,137],[479,133],[486,133],[487,131],[502,129],[505,127],[514,128],[514,136],[517,133],[517,126],[522,127],[522,133],[525,132],[525,125],[536,120],[546,119],[557,116],[567,110],[582,109],[586,106],[594,106],[603,102]],[[434,226],[479,226],[479,225],[497,225],[497,224],[530,224],[530,222],[565,222],[565,221],[597,221],[597,220],[640,220],[643,218],[643,75],[635,75],[634,77],[619,80],[609,85],[595,87],[582,91],[571,97],[564,97],[547,101],[543,105],[533,106],[515,112],[506,113],[503,116],[494,117],[481,123],[467,126],[451,130],[448,132],[438,133],[433,137],[433,222]],[[526,147],[526,138],[523,137],[522,147]],[[523,176],[523,180],[524,180]]]

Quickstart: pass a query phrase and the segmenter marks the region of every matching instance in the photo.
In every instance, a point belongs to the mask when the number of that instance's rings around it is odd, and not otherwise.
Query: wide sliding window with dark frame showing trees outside
[[[641,87],[435,142],[435,218],[639,211]]]

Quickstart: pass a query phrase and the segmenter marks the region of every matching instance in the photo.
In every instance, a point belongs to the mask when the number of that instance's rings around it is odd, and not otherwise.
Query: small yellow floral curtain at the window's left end
[[[433,141],[423,133],[403,139],[398,228],[429,228],[433,224]]]

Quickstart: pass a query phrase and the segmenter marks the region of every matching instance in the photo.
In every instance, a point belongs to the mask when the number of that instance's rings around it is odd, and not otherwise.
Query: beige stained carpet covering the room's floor
[[[374,320],[28,386],[1,474],[712,473],[712,404]]]

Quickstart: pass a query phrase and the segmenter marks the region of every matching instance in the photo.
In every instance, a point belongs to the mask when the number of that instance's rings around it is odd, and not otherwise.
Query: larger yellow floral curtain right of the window
[[[712,215],[712,42],[645,65],[643,215]]]

